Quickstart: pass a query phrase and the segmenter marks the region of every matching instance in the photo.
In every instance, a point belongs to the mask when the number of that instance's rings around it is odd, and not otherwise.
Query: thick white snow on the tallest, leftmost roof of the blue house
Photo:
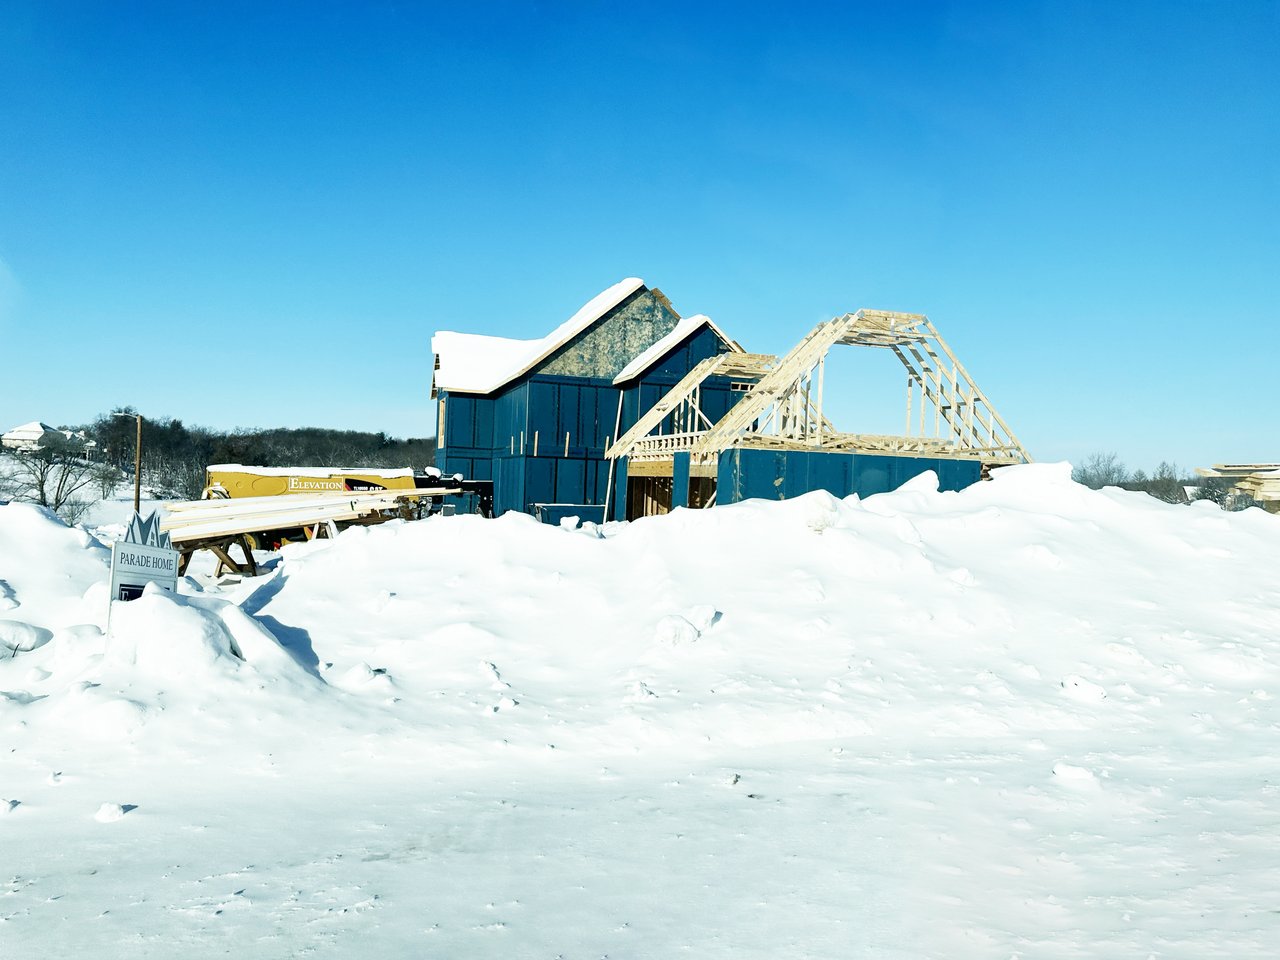
[[[628,276],[591,297],[573,316],[536,340],[440,330],[431,338],[436,361],[435,388],[493,393],[531,370],[641,288],[644,280]]]

